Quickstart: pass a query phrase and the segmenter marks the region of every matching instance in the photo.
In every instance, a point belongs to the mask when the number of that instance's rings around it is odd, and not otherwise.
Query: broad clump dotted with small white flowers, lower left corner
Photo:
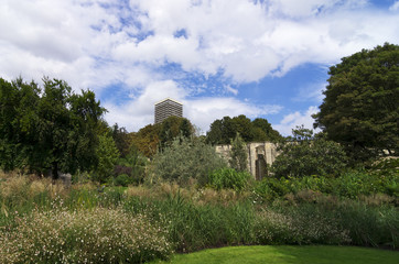
[[[1,263],[142,263],[172,253],[168,233],[120,209],[33,211],[0,232]]]

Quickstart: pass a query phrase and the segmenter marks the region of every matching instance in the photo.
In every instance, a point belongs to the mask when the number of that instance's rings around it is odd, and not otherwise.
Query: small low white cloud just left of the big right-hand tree
[[[317,107],[313,106],[310,107],[304,113],[296,111],[284,116],[279,124],[273,124],[272,127],[283,135],[291,135],[292,129],[295,129],[298,125],[302,124],[304,128],[313,130],[314,119],[312,118],[312,114],[317,112]]]

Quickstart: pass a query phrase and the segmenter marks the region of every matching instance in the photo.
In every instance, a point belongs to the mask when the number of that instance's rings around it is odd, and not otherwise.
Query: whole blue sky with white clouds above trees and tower
[[[201,133],[223,117],[312,128],[328,68],[399,44],[399,0],[0,0],[0,77],[96,92],[107,122],[172,98]]]

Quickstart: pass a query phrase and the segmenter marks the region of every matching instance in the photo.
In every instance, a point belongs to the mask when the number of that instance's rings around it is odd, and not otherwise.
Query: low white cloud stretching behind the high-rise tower
[[[153,123],[154,103],[166,97],[171,97],[183,103],[183,117],[187,118],[206,132],[209,124],[223,117],[237,117],[245,114],[248,118],[256,118],[265,114],[276,114],[281,106],[254,106],[236,98],[202,98],[187,99],[182,88],[174,81],[160,81],[149,85],[144,91],[134,100],[117,106],[114,102],[105,102],[109,110],[106,120],[112,124],[117,122],[128,131],[138,131],[149,123]]]

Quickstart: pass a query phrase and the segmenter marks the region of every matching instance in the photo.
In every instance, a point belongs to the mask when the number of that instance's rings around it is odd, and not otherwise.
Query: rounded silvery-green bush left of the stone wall
[[[215,147],[197,139],[176,138],[154,156],[152,178],[187,185],[190,179],[207,183],[208,174],[226,166]]]

